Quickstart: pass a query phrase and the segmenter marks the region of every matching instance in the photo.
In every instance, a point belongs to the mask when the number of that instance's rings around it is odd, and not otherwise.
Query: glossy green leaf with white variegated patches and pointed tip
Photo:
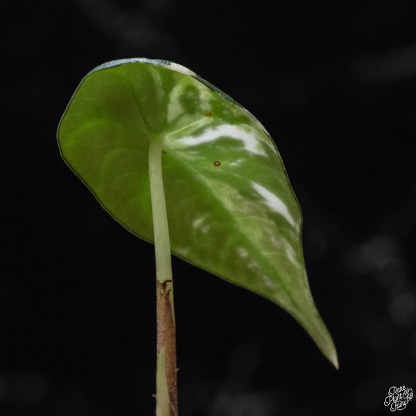
[[[80,83],[58,128],[62,157],[108,213],[153,242],[148,148],[162,164],[173,254],[267,297],[338,366],[302,253],[302,214],[268,132],[195,73],[116,60]]]

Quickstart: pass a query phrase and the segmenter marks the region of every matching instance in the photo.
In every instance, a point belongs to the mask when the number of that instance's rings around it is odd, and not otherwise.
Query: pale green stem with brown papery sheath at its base
[[[156,258],[156,416],[177,416],[175,311],[173,308],[171,241],[162,177],[162,144],[162,137],[150,139],[150,197]]]

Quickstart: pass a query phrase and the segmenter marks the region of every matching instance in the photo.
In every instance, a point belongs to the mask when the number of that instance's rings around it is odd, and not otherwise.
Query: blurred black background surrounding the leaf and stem
[[[1,9],[2,416],[154,414],[153,247],[55,141],[80,79],[128,57],[193,69],[268,129],[340,359],[271,302],[174,259],[180,415],[388,415],[391,385],[416,389],[416,1]]]

